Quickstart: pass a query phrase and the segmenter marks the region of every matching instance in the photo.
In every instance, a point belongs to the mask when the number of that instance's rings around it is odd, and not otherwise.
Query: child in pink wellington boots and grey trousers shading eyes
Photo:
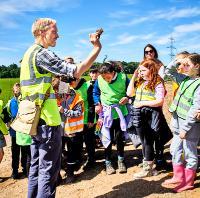
[[[174,61],[177,62],[178,59]],[[174,135],[170,146],[173,177],[166,180],[165,184],[178,184],[174,191],[182,192],[194,188],[198,164],[200,122],[196,115],[200,110],[200,55],[191,54],[184,60],[186,75],[177,73],[174,63],[170,63],[165,71],[180,84],[169,109],[172,112],[171,129]]]

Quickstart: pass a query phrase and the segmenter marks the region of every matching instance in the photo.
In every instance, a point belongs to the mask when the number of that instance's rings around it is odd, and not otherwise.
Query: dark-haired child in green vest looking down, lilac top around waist
[[[117,146],[119,173],[126,173],[124,162],[125,116],[128,114],[126,89],[127,76],[119,71],[116,62],[105,62],[99,68],[100,75],[94,84],[95,110],[102,120],[101,140],[105,147],[105,164],[108,175],[116,173],[112,165],[112,144]],[[100,122],[100,120],[98,120]]]

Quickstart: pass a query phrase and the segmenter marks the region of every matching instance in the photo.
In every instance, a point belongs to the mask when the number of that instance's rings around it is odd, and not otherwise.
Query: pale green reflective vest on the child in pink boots
[[[200,79],[186,78],[181,83],[169,111],[176,112],[178,117],[186,119],[188,111],[193,105],[194,92],[198,86],[200,86]]]

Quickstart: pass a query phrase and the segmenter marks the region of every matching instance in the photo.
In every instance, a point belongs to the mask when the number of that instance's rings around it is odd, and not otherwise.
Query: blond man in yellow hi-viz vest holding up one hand
[[[56,46],[59,38],[55,20],[37,19],[32,33],[35,43],[25,52],[20,72],[22,98],[41,106],[37,135],[32,137],[28,198],[50,198],[55,197],[62,144],[61,118],[51,85],[52,75],[79,78],[97,58],[101,43],[97,33],[90,34],[93,49],[83,62],[75,65],[48,50]]]

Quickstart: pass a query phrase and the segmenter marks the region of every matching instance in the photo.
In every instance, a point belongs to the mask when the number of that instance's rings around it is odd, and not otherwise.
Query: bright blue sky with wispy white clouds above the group
[[[18,63],[34,42],[36,18],[57,20],[60,38],[52,49],[60,57],[83,60],[91,50],[88,34],[102,27],[102,51],[109,60],[141,61],[143,48],[153,44],[169,63],[169,38],[174,53],[200,53],[200,0],[1,0],[0,65]]]

